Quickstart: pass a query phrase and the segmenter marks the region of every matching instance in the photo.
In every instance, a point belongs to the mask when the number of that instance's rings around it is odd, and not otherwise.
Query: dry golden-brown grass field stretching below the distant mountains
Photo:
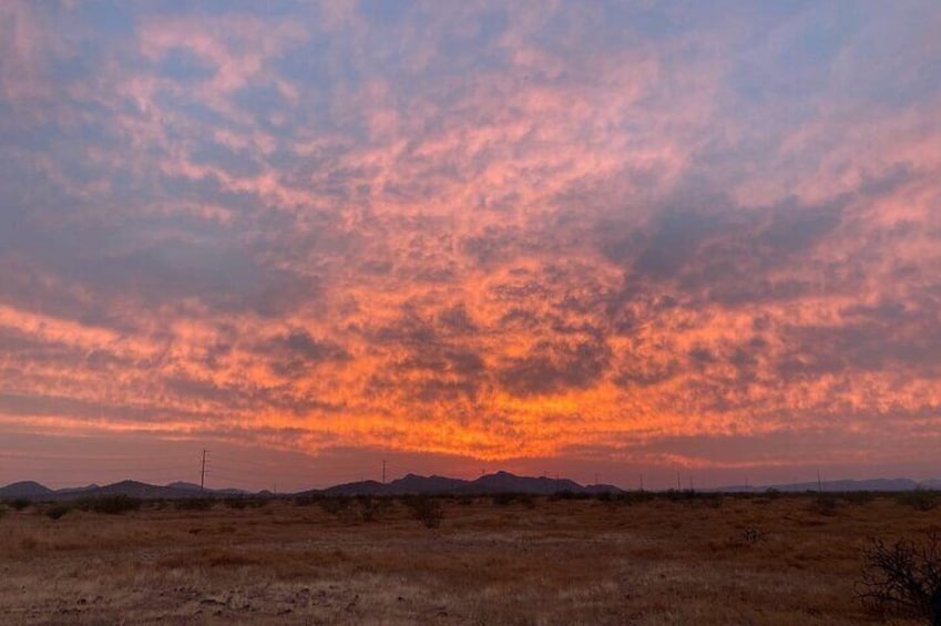
[[[861,551],[941,528],[880,496],[611,503],[273,501],[0,519],[2,624],[923,624],[855,598]]]

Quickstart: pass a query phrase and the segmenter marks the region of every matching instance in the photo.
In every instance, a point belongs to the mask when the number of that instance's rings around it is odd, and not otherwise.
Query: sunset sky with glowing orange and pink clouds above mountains
[[[941,476],[939,32],[4,1],[0,484]]]

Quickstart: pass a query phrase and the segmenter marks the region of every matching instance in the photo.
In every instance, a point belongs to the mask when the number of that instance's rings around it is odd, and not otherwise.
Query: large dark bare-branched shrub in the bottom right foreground
[[[894,609],[941,626],[941,534],[931,532],[919,543],[872,540],[862,560],[860,601],[883,613]]]

